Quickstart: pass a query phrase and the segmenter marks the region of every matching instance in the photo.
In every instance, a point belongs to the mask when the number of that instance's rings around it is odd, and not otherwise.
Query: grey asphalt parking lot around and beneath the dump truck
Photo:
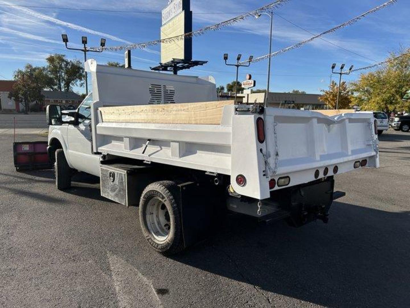
[[[380,137],[380,169],[336,177],[330,221],[290,228],[228,216],[218,234],[166,258],[137,208],[79,176],[16,172],[0,134],[1,307],[408,307],[410,133]],[[43,140],[19,135],[19,140]]]

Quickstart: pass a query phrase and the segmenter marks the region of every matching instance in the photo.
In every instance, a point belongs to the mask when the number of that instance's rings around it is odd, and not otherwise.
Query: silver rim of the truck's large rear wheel
[[[171,217],[167,205],[158,197],[148,201],[146,222],[150,234],[156,241],[164,242],[171,230]]]

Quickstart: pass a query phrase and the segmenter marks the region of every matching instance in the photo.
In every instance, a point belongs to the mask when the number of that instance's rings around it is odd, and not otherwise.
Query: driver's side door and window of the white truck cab
[[[92,93],[78,108],[78,125],[69,125],[67,131],[68,159],[73,167],[92,175],[100,175],[100,156],[93,154],[91,142]]]

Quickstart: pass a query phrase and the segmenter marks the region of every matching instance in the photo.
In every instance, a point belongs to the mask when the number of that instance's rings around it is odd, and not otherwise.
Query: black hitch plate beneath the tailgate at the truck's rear
[[[280,196],[280,204],[290,212],[289,224],[300,227],[316,219],[327,223],[334,200],[334,186],[335,181],[330,178],[284,191]]]

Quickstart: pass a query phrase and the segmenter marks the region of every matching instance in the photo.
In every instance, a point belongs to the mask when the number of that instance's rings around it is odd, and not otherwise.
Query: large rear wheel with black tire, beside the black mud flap
[[[161,181],[149,184],[139,202],[139,221],[148,243],[159,253],[172,255],[182,251],[182,222],[178,186]]]

